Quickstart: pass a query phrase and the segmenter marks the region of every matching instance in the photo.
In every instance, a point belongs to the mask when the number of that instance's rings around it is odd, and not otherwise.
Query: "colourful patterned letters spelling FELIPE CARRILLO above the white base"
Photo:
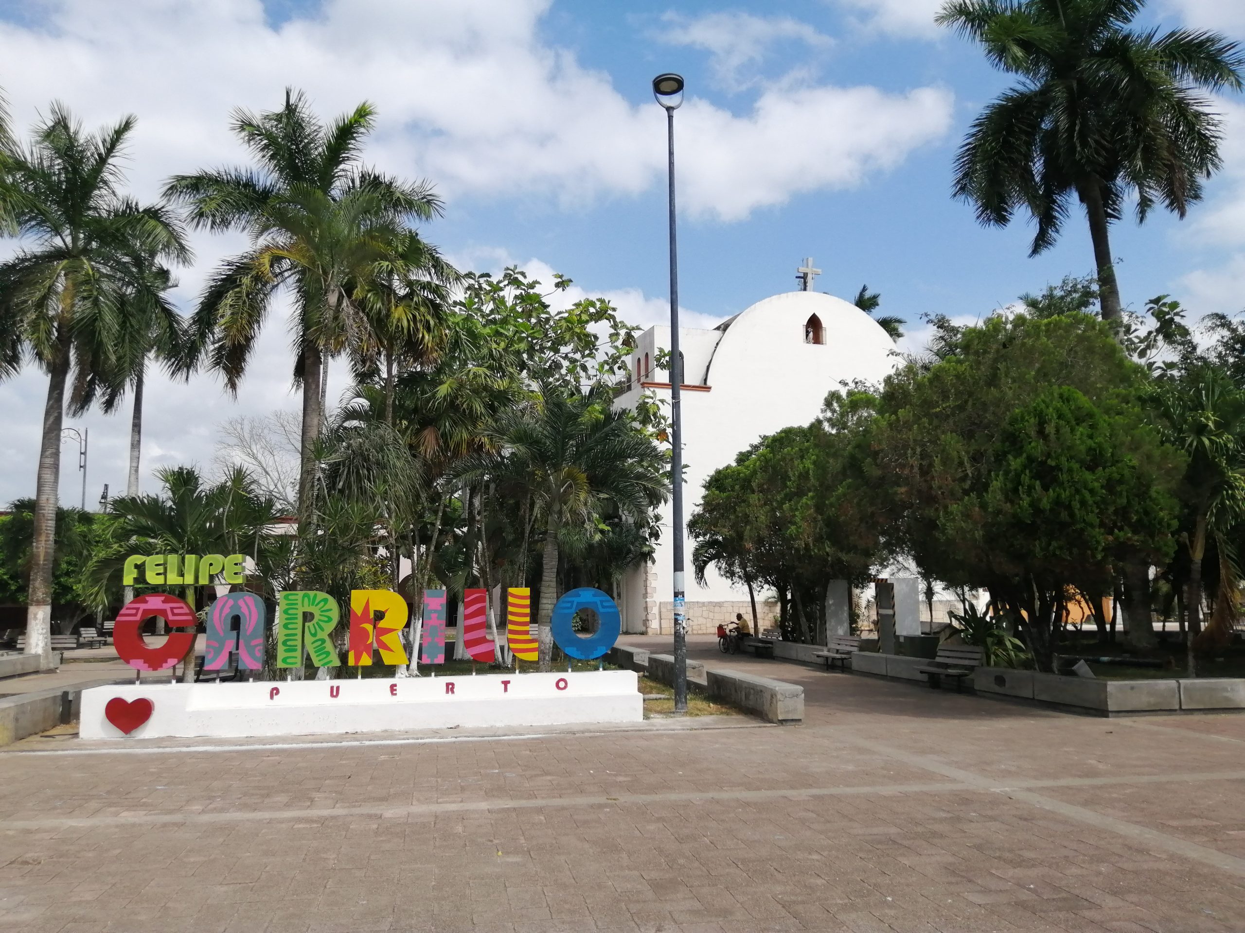
[[[207,555],[203,559],[188,555],[179,561],[176,560],[177,555],[164,555],[159,560],[166,577],[169,572],[168,560],[173,559],[178,576],[186,577],[189,567],[189,576],[193,578],[197,564],[202,578],[204,567],[215,567],[218,561],[228,565],[234,557],[240,561],[239,555],[230,557]],[[156,557],[137,559],[147,561],[148,578],[152,575],[153,560]],[[131,561],[136,559],[127,559],[127,575],[131,573]],[[242,565],[234,566],[240,573]],[[137,570],[137,564],[134,567]],[[444,590],[426,590],[423,593],[420,653],[425,664],[446,662],[446,602]],[[535,661],[538,648],[530,629],[530,590],[512,587],[507,591],[505,602],[507,643],[510,651],[520,661]],[[489,662],[496,656],[496,642],[488,637],[487,607],[486,590],[467,590],[463,593],[461,637],[463,647],[474,661]],[[584,637],[574,631],[575,613],[581,610],[595,612],[600,621],[596,632]],[[168,638],[157,646],[147,644],[142,636],[143,622],[152,617],[163,618],[169,629]],[[346,664],[371,666],[377,653],[382,664],[408,663],[406,647],[401,639],[401,632],[408,620],[410,610],[406,600],[392,590],[352,590]],[[316,667],[341,666],[341,658],[331,638],[340,621],[341,610],[329,593],[317,590],[280,593],[276,601],[276,667],[301,667],[304,657],[310,657]],[[121,659],[131,667],[139,671],[166,671],[190,651],[197,627],[194,610],[184,600],[168,593],[146,593],[131,600],[117,613],[113,644]],[[558,601],[553,610],[550,628],[553,639],[569,657],[591,661],[614,646],[622,631],[622,620],[618,605],[606,593],[583,587],[571,590]],[[268,611],[259,596],[243,592],[218,597],[207,615],[203,669],[220,671],[229,663],[230,656],[237,657],[238,667],[243,671],[263,669],[266,633]]]

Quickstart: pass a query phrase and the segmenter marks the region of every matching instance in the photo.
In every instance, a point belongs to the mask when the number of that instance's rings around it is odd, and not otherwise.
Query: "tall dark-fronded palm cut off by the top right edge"
[[[1183,218],[1220,164],[1221,122],[1203,91],[1239,91],[1245,56],[1215,32],[1132,31],[1145,0],[951,0],[937,22],[1020,77],[974,121],[956,158],[955,195],[982,224],[1018,209],[1037,223],[1030,255],[1050,249],[1073,195],[1089,221],[1102,316],[1119,320],[1111,224],[1129,195]]]

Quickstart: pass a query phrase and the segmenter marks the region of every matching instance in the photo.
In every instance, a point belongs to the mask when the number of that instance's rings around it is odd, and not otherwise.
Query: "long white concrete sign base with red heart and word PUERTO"
[[[106,707],[113,704],[110,722]],[[142,718],[151,703],[151,715]],[[137,710],[137,715],[136,715]],[[254,680],[117,684],[82,692],[83,739],[251,738],[449,726],[637,723],[634,671],[412,677],[397,680]]]

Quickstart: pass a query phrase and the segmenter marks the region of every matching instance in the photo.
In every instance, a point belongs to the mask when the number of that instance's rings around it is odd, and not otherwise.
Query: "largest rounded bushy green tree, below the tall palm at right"
[[[1147,392],[1089,315],[962,328],[878,398],[862,474],[889,546],[951,586],[990,588],[1050,669],[1071,587],[1170,554],[1182,457],[1147,427]]]

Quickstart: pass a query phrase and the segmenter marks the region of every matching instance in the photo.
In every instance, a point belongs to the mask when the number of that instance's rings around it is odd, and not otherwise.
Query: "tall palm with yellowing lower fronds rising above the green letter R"
[[[324,417],[324,363],[367,333],[351,284],[380,262],[400,261],[393,246],[406,225],[441,213],[426,183],[407,184],[365,168],[360,149],[374,109],[361,103],[330,126],[301,93],[285,106],[235,111],[233,131],[255,157],[254,168],[176,175],[166,194],[187,205],[190,223],[243,230],[251,248],[215,271],[195,315],[208,361],[237,391],[275,294],[294,297],[295,384],[303,388],[299,518],[310,518],[315,443]]]

